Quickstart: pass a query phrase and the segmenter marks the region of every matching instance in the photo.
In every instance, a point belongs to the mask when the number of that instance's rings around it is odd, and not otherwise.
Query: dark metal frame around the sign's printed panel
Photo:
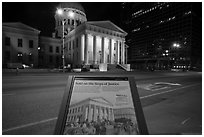
[[[75,80],[126,80],[129,81],[130,84],[130,92],[132,94],[132,100],[133,105],[135,108],[135,115],[137,119],[138,129],[139,133],[141,135],[148,135],[148,129],[147,124],[145,121],[143,109],[141,106],[138,90],[136,87],[136,82],[134,77],[132,76],[118,76],[118,75],[107,75],[107,76],[101,76],[101,75],[70,75],[68,77],[67,85],[64,91],[63,100],[61,103],[57,123],[55,126],[55,135],[62,135],[64,132],[65,124],[66,124],[66,118],[69,110],[70,100],[72,96],[72,90],[74,86]]]

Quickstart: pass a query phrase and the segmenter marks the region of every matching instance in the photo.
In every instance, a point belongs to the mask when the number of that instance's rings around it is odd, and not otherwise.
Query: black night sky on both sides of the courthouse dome
[[[22,22],[39,29],[41,35],[51,36],[55,27],[58,2],[3,2],[2,21]],[[120,25],[119,2],[81,2],[88,21],[111,20]]]

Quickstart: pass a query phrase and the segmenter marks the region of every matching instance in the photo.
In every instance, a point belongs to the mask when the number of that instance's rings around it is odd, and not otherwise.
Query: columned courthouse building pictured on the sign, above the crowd
[[[114,121],[113,105],[102,97],[87,98],[70,105],[67,122]]]

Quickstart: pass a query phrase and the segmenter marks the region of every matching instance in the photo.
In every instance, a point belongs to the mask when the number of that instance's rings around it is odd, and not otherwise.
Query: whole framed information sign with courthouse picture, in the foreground
[[[69,76],[55,134],[148,134],[134,78]]]

